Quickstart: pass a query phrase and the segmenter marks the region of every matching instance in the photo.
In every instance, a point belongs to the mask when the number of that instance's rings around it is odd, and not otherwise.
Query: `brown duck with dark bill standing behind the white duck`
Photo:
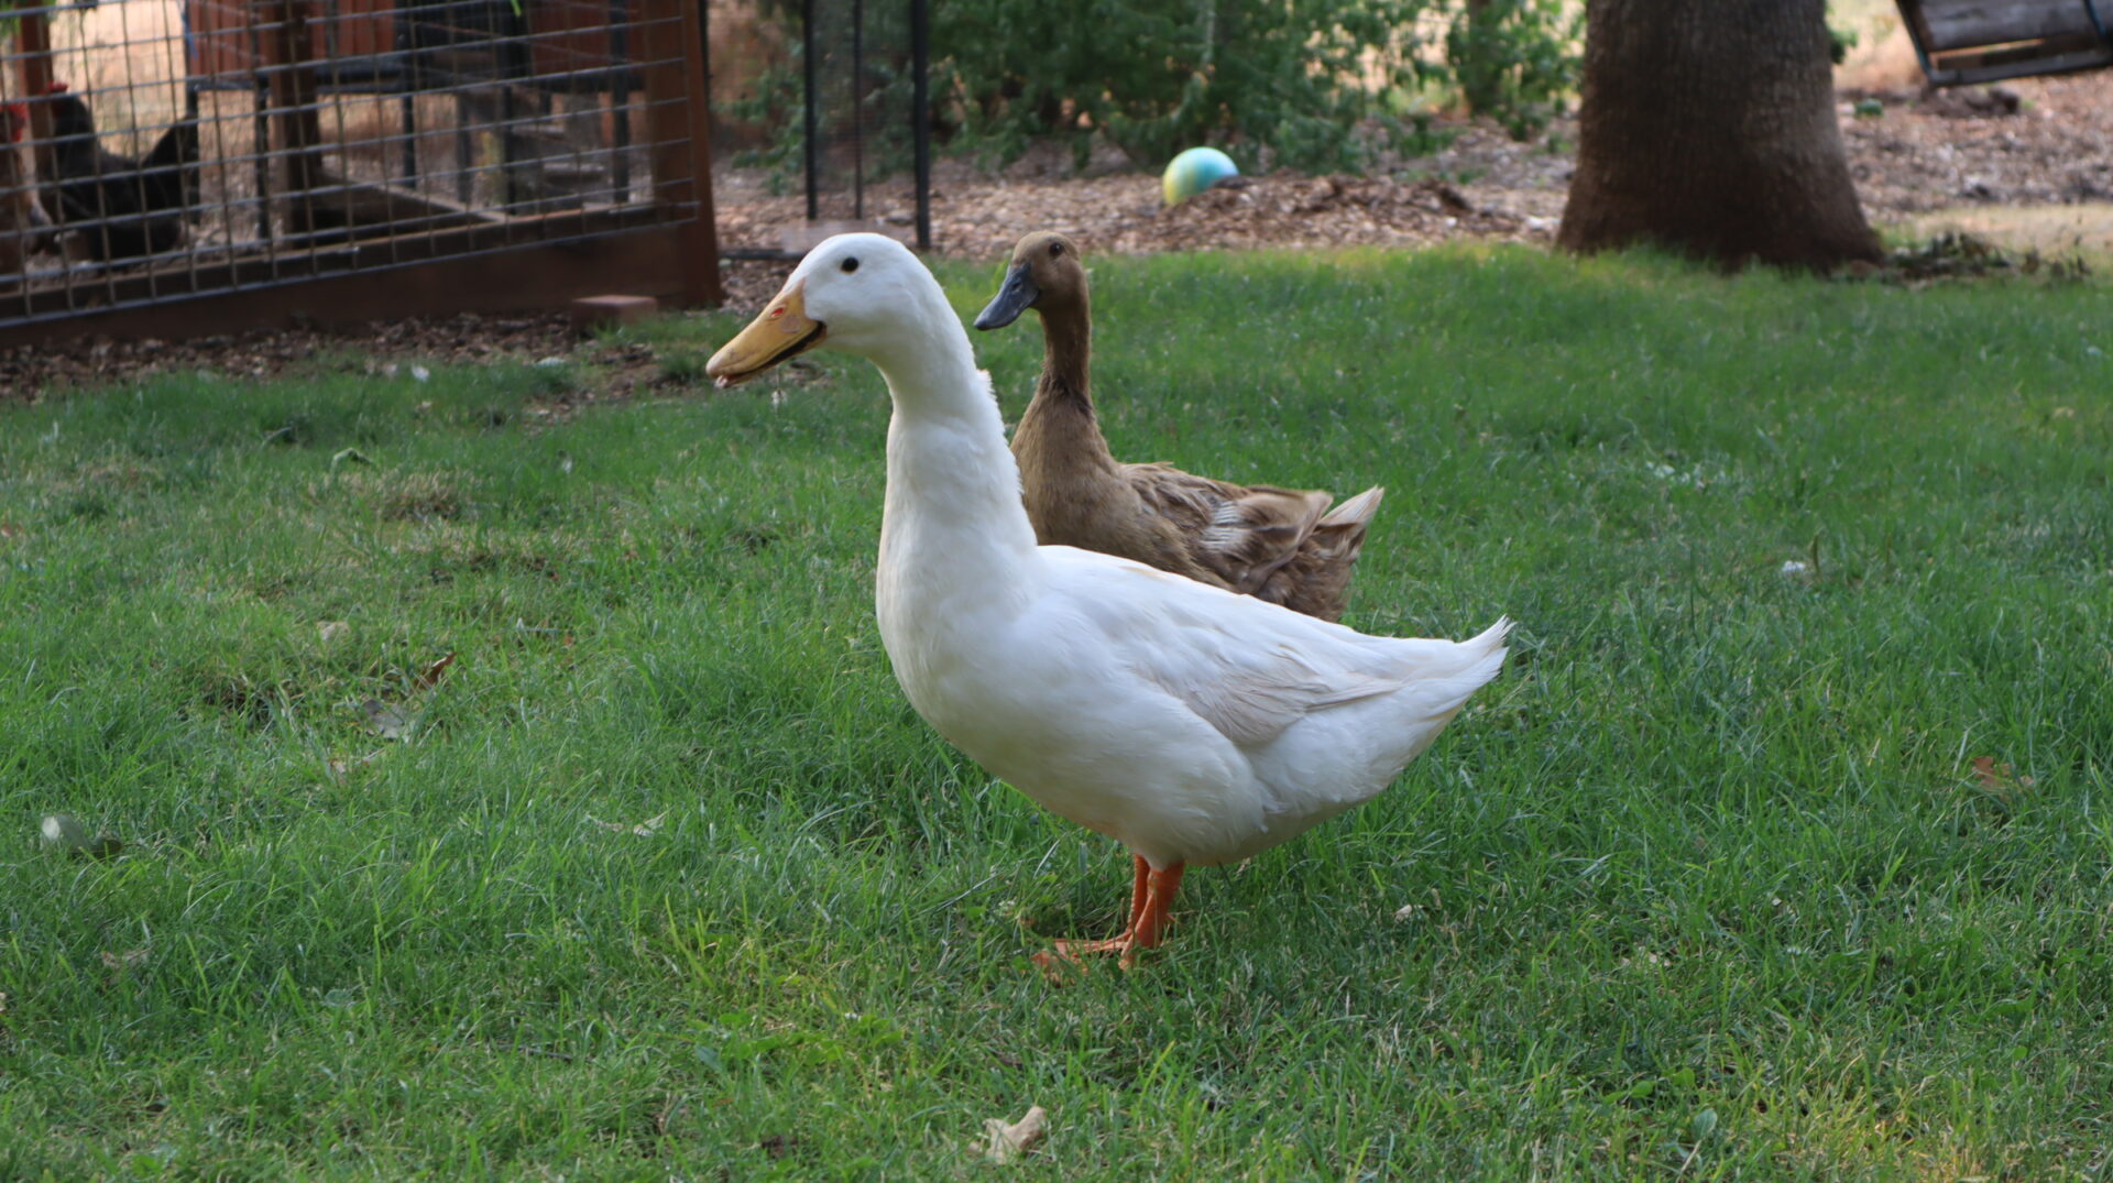
[[[1130,558],[1160,570],[1283,604],[1308,617],[1342,615],[1378,486],[1329,511],[1321,490],[1238,486],[1168,465],[1124,465],[1092,414],[1086,368],[1092,315],[1078,247],[1035,232],[1012,249],[1012,266],[978,330],[1042,313],[1042,380],[1012,433],[1027,518],[1044,545]]]

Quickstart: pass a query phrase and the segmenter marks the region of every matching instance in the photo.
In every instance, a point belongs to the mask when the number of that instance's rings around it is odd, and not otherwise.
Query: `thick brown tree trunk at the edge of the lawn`
[[[1726,266],[1876,260],[1834,123],[1826,0],[1589,0],[1555,241]]]

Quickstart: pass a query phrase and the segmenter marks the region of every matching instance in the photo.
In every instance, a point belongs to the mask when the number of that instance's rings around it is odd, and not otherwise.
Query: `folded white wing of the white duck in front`
[[[1363,636],[1114,556],[1071,547],[1042,547],[1042,556],[1052,592],[1084,617],[1078,625],[1242,748],[1418,680],[1466,680],[1464,699],[1502,661],[1502,625],[1464,653],[1450,640]]]

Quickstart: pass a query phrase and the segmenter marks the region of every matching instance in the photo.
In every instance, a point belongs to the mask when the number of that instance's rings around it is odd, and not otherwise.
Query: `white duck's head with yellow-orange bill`
[[[892,355],[917,344],[923,321],[961,332],[917,256],[885,234],[837,234],[807,251],[778,296],[704,372],[718,387],[733,387],[824,342],[885,368]]]

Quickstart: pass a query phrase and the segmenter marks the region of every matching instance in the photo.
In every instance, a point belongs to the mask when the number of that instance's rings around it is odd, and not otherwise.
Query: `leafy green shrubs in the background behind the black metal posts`
[[[902,44],[906,4],[866,4],[868,46]],[[780,133],[742,163],[799,171],[803,144],[797,6],[788,63],[733,114]],[[845,36],[830,23],[824,38]],[[1443,61],[1420,40],[1443,30]],[[843,53],[822,44],[822,53]],[[909,161],[906,63],[871,55],[864,95],[868,165]],[[1576,21],[1562,0],[961,0],[932,4],[932,99],[942,144],[991,163],[1031,144],[1069,144],[1084,165],[1097,139],[1141,167],[1196,144],[1236,146],[1242,165],[1354,169],[1373,133],[1422,135],[1405,118],[1433,89],[1517,137],[1547,125],[1576,80]],[[841,112],[824,110],[822,118]],[[833,129],[824,123],[824,137]],[[1238,152],[1247,148],[1247,152]]]

